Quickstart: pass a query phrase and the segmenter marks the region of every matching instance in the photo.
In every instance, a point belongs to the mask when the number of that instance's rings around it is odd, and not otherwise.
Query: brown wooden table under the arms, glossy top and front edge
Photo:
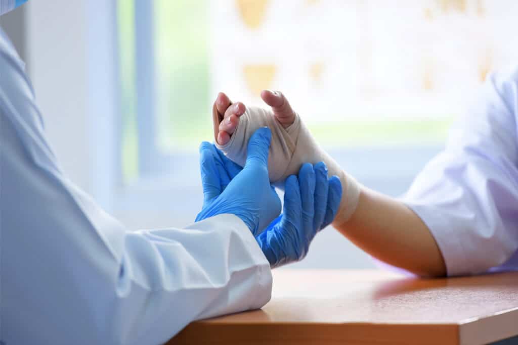
[[[518,272],[418,279],[277,270],[262,309],[193,322],[168,344],[483,344],[518,335]]]

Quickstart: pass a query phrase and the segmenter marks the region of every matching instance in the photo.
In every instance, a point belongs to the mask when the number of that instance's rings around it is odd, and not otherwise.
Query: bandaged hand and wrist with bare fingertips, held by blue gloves
[[[272,133],[268,156],[270,182],[283,188],[287,176],[297,174],[303,163],[325,162],[328,176],[337,175],[342,186],[342,198],[334,222],[346,222],[356,209],[359,184],[320,148],[300,116],[292,110],[290,103],[280,92],[265,90],[261,97],[270,109],[244,107],[240,102],[232,104],[226,95],[218,95],[213,107],[214,139],[217,147],[229,159],[244,166],[248,140],[252,133],[257,128],[269,127]]]

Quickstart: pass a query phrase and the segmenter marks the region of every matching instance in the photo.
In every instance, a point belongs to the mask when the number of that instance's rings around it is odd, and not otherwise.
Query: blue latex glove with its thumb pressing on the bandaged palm
[[[270,140],[269,128],[263,127],[255,131],[248,142],[244,168],[227,184],[222,183],[224,175],[220,171],[223,166],[221,163],[219,167],[214,164],[214,153],[206,149],[208,143],[202,143],[200,167],[204,205],[196,221],[219,214],[234,214],[256,236],[279,215],[281,201],[268,178]],[[231,169],[234,168],[235,164]]]

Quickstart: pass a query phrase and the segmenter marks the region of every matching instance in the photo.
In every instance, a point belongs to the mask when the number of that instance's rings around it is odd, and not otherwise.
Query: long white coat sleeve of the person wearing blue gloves
[[[128,232],[63,176],[1,35],[0,132],[0,341],[163,343],[269,301],[268,261],[238,217]]]

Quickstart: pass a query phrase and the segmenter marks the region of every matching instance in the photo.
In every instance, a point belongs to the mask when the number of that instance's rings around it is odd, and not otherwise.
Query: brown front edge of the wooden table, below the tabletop
[[[460,325],[415,323],[194,322],[167,344],[460,344]],[[409,342],[409,339],[412,339]]]

